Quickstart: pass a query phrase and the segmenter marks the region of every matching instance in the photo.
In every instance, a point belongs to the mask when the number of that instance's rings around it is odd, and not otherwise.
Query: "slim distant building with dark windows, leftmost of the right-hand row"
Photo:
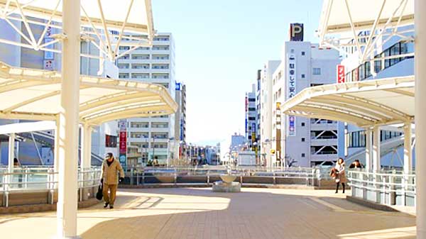
[[[257,147],[257,110],[256,110],[256,84],[251,85],[251,91],[246,92],[246,141],[247,150],[253,150]]]

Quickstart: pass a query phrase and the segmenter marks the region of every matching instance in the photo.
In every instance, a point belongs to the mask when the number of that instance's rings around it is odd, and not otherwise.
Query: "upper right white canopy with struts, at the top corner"
[[[408,35],[413,35],[414,27],[401,28],[413,24],[414,0],[324,0],[317,33],[320,45],[337,50],[355,46],[362,63],[378,53],[375,45],[383,45],[393,37],[413,40]],[[360,34],[362,31],[365,34]],[[387,58],[393,57],[402,56]]]

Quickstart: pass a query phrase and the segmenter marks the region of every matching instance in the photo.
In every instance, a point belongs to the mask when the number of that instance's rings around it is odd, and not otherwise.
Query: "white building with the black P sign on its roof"
[[[288,41],[281,62],[272,75],[272,148],[277,157],[300,167],[311,167],[339,157],[339,140],[344,142],[337,121],[285,116],[279,106],[307,87],[333,84],[339,52],[317,44]],[[339,133],[342,135],[339,138]],[[342,147],[343,149],[343,147]],[[274,162],[274,157],[271,157]]]

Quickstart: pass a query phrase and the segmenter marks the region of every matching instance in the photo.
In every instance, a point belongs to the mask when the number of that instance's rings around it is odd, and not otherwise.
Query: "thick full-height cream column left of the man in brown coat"
[[[58,238],[77,237],[80,90],[80,0],[62,1],[62,84],[59,118]]]

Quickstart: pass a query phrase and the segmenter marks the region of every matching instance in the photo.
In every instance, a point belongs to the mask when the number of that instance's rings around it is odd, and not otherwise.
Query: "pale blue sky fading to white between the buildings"
[[[266,60],[279,60],[290,23],[317,43],[320,0],[153,0],[155,29],[173,33],[176,79],[187,85],[187,141],[244,134],[244,97]]]

